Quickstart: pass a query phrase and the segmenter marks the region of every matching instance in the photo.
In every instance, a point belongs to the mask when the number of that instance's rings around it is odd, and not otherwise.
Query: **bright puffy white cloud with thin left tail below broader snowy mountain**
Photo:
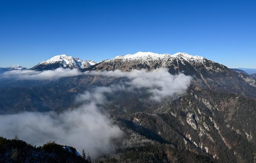
[[[100,75],[108,77],[127,77],[130,82],[126,84],[132,88],[147,88],[152,93],[152,99],[161,100],[167,96],[184,93],[191,82],[191,77],[184,74],[171,75],[166,68],[153,71],[132,70],[132,71],[86,71],[84,74]]]

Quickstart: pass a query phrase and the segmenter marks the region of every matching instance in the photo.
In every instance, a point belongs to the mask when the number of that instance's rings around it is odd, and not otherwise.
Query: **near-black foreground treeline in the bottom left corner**
[[[83,155],[70,146],[48,142],[43,146],[32,146],[22,140],[0,137],[1,163],[91,163],[89,154]]]

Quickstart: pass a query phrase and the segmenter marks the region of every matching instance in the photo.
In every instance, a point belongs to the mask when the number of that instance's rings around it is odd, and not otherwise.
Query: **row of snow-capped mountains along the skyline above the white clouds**
[[[200,87],[242,93],[243,95],[256,97],[255,76],[248,75],[242,70],[228,69],[228,67],[215,63],[200,56],[191,56],[187,53],[157,54],[151,52],[138,52],[116,56],[113,59],[104,60],[99,63],[94,61],[82,61],[79,58],[58,55],[47,61],[42,61],[31,70],[54,70],[59,67],[64,69],[87,70],[122,70],[131,71],[133,69],[146,69],[148,71],[167,67],[173,75],[184,73],[193,77],[193,82]],[[22,67],[9,67],[5,70],[27,70]],[[238,73],[235,73],[238,72]],[[240,82],[243,80],[244,82]],[[249,85],[248,85],[249,84]]]

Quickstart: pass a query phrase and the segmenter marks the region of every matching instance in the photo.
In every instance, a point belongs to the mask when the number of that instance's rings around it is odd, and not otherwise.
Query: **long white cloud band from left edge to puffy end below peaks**
[[[127,77],[131,82],[126,83],[132,88],[147,88],[153,94],[152,99],[161,100],[166,96],[182,94],[188,88],[191,77],[184,74],[171,75],[166,68],[155,69],[153,71],[132,70],[132,71],[85,71],[77,69],[63,69],[35,71],[35,70],[14,70],[1,74],[2,78],[16,80],[57,80],[62,77],[79,75],[97,75],[106,77]]]

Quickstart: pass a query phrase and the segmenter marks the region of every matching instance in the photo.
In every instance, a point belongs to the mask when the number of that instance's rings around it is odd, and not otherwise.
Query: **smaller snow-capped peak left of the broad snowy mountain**
[[[83,61],[79,58],[75,58],[72,56],[67,56],[65,54],[54,56],[47,61],[42,61],[36,66],[32,67],[31,70],[53,70],[59,67],[63,67],[65,69],[85,69],[95,64],[94,61]]]

